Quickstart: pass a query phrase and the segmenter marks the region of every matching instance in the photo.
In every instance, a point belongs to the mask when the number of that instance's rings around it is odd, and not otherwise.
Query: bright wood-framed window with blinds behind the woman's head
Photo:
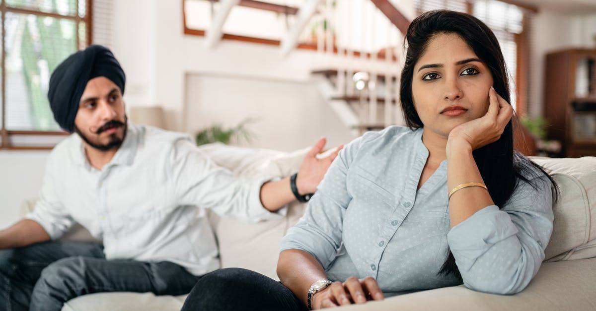
[[[510,104],[518,114],[524,114],[527,105],[527,18],[531,7],[519,7],[498,0],[415,0],[418,14],[446,8],[476,16],[486,23],[501,45],[510,77]]]

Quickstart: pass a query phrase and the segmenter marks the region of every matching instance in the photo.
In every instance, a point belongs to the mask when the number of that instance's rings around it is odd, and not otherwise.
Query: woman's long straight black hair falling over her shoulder
[[[407,53],[401,74],[399,96],[404,119],[411,129],[424,126],[412,100],[414,66],[426,51],[431,39],[440,33],[455,33],[460,36],[491,70],[495,91],[507,102],[510,102],[505,60],[499,42],[491,29],[478,18],[469,14],[448,10],[430,11],[412,21],[405,38]],[[482,175],[482,179],[485,181],[496,206],[502,207],[507,202],[520,180],[529,182],[529,179],[522,175],[522,173],[530,173],[527,163],[531,163],[532,166],[541,170],[554,185],[554,181],[542,167],[513,150],[513,125],[511,120],[505,126],[501,138],[474,150],[473,155],[480,170],[480,175]],[[536,188],[536,185],[532,184],[532,186]],[[556,192],[555,186],[555,194]],[[460,270],[455,264],[455,257],[451,250],[449,250],[447,259],[439,271],[439,275],[449,274],[462,281]]]

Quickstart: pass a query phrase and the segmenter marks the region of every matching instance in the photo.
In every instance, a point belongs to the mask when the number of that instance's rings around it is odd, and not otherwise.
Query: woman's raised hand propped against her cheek
[[[454,127],[449,132],[447,154],[451,148],[476,150],[497,141],[513,116],[513,107],[495,89],[489,90],[488,112],[475,120]]]

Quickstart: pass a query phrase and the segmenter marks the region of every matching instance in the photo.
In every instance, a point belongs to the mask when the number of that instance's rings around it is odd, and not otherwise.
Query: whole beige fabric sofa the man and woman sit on
[[[288,176],[295,172],[306,150],[281,153],[206,145],[201,149],[237,176],[257,174]],[[498,296],[468,290],[463,285],[420,291],[340,308],[356,310],[596,310],[596,157],[533,158],[550,169],[561,189],[554,206],[552,238],[545,263],[526,290],[513,296]],[[292,204],[285,217],[260,223],[242,223],[210,216],[218,237],[221,265],[242,267],[277,279],[280,240],[297,222],[305,206]],[[30,209],[25,204],[23,212]],[[70,238],[85,240],[84,232]],[[185,296],[151,293],[100,293],[68,301],[63,310],[179,310]]]

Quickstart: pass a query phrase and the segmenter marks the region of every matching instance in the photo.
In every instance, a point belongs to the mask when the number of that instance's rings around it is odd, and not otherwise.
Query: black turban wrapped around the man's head
[[[87,82],[107,77],[124,94],[126,76],[112,52],[101,45],[91,45],[64,60],[49,78],[48,99],[54,119],[63,129],[73,132],[80,97]]]

